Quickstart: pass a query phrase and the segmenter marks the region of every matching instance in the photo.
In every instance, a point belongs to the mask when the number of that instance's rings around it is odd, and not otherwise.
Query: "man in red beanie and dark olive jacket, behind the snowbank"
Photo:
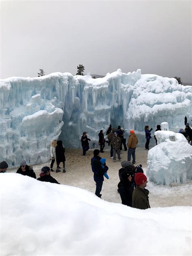
[[[132,194],[132,207],[137,209],[150,208],[149,205],[149,190],[145,189],[147,186],[147,177],[143,173],[136,173],[134,176],[136,188]]]

